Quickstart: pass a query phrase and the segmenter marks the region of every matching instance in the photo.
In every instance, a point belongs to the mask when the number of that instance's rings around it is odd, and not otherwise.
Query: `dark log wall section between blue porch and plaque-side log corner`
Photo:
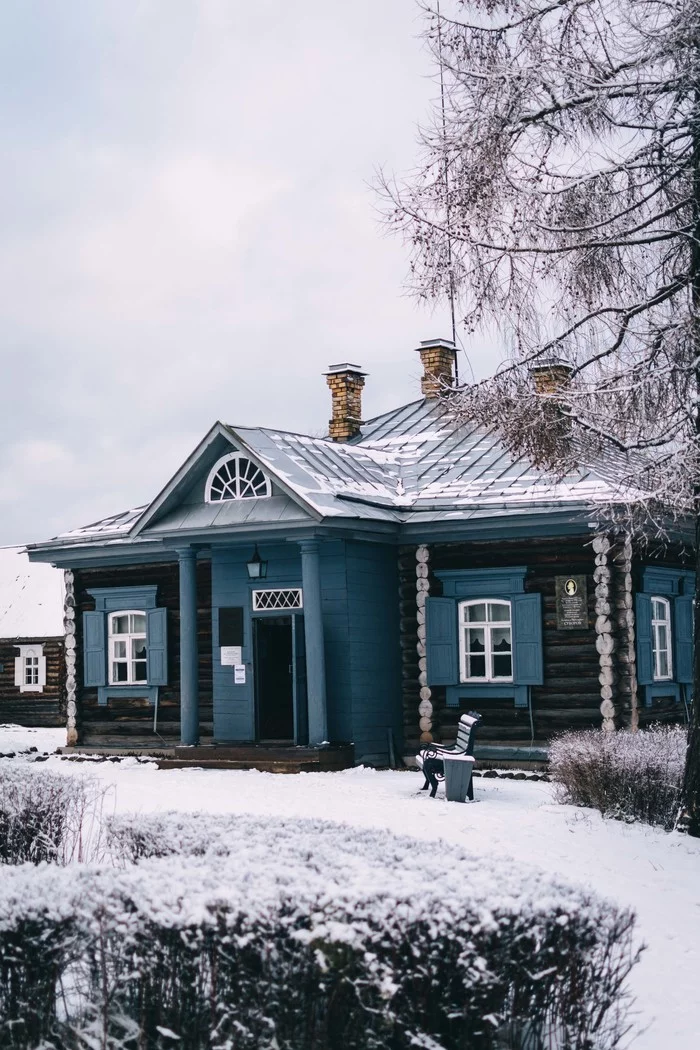
[[[436,571],[487,569],[526,565],[525,590],[539,592],[543,602],[545,684],[532,688],[534,746],[543,747],[554,733],[568,729],[599,728],[599,659],[595,646],[594,553],[591,537],[549,538],[493,543],[430,544],[429,593],[440,595]],[[419,655],[416,606],[416,546],[402,547],[399,555],[402,650],[402,695],[406,754],[419,747]],[[589,629],[559,631],[556,627],[556,575],[586,575]],[[445,689],[430,687],[433,739],[454,738],[457,721],[467,706],[449,708]],[[512,699],[485,698],[470,701],[483,715],[479,742],[504,747],[528,747],[532,738],[530,713],[515,708]]]

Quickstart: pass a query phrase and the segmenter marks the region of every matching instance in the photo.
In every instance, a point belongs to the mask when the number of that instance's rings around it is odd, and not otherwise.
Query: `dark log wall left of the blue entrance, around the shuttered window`
[[[157,586],[157,605],[168,610],[168,685],[158,692],[157,734],[153,706],[143,697],[110,698],[98,705],[97,689],[78,690],[78,742],[82,747],[173,747],[179,742],[179,575],[176,563],[76,569],[77,667],[83,680],[83,613],[94,609],[87,591],[96,587]],[[199,734],[211,737],[212,616],[211,563],[197,562],[197,649],[199,666]]]

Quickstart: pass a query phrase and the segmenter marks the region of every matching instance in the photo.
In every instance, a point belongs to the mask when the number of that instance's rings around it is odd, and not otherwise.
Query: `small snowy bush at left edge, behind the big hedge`
[[[67,864],[93,853],[97,781],[0,762],[0,864]]]

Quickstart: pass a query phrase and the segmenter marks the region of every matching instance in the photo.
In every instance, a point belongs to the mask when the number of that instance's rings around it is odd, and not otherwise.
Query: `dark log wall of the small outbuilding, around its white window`
[[[43,647],[46,685],[41,692],[21,693],[15,685],[16,646]],[[66,722],[63,638],[0,638],[0,722],[61,727]]]

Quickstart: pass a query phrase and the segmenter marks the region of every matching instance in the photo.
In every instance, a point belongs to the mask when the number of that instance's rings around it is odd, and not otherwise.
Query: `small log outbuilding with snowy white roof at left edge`
[[[64,726],[63,572],[0,547],[0,722]]]

